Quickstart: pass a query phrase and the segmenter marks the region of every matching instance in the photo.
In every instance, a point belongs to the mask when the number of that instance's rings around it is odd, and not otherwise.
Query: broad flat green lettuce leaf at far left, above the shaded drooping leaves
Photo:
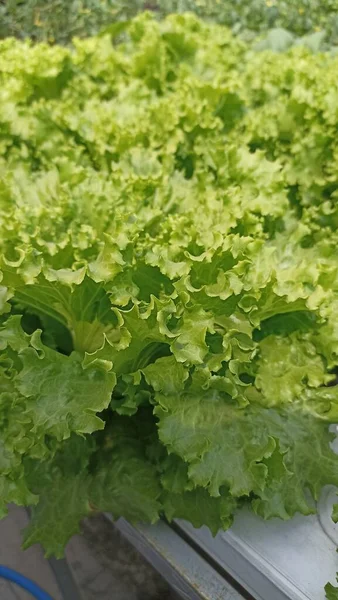
[[[81,356],[64,356],[47,348],[38,333],[20,358],[23,369],[17,385],[27,398],[26,413],[35,431],[66,439],[72,431],[91,433],[104,427],[96,413],[109,405],[116,382],[114,373],[97,363],[84,369]]]

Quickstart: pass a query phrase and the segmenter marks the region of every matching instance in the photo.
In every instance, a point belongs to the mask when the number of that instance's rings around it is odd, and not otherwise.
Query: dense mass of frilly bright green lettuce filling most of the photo
[[[216,532],[338,484],[338,60],[120,31],[1,43],[1,512],[57,556],[94,511]]]

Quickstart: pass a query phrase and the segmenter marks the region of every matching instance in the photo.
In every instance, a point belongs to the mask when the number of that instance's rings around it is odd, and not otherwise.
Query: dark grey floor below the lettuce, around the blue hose
[[[26,511],[17,507],[10,507],[9,515],[0,521],[0,564],[33,579],[53,600],[63,600],[41,547],[20,549],[21,530],[27,522]],[[162,578],[103,516],[84,522],[83,535],[69,542],[66,558],[81,600],[177,600]],[[2,579],[0,598],[31,600],[26,592]]]

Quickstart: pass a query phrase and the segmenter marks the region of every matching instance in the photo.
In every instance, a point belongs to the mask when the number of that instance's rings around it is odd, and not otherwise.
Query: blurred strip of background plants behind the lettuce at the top
[[[338,42],[337,0],[6,0],[0,4],[0,37],[68,43],[143,10],[158,17],[191,11],[246,39],[283,28],[296,36],[323,31],[330,45]]]

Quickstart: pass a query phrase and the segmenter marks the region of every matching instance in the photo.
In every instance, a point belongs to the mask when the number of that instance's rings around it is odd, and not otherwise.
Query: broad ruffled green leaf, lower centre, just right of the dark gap
[[[189,478],[212,496],[223,485],[233,496],[259,492],[265,485],[263,458],[275,442],[260,412],[239,410],[224,392],[192,388],[181,396],[156,396],[159,437],[169,452],[189,463]],[[210,423],[213,423],[210,428]]]

